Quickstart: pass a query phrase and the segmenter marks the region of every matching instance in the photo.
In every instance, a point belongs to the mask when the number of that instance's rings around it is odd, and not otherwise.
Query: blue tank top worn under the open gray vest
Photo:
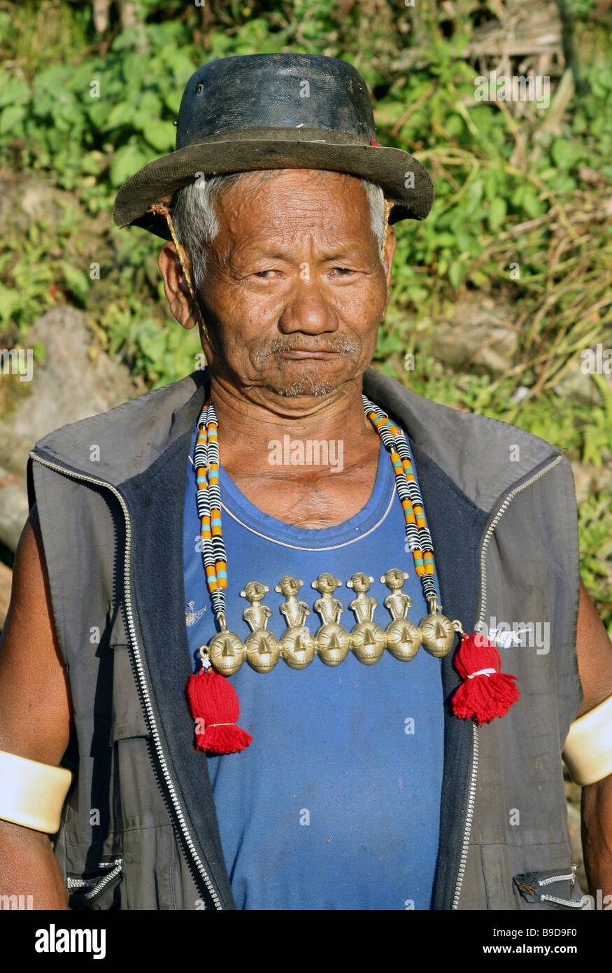
[[[197,429],[194,428],[191,456]],[[220,442],[223,459],[223,439]],[[342,474],[341,474],[342,475]],[[357,571],[374,577],[368,595],[374,620],[391,614],[380,576],[409,572],[403,592],[418,621],[427,605],[405,549],[405,522],[389,454],[380,445],[372,495],[354,517],[308,530],[262,513],[220,469],[223,537],[228,557],[228,628],[244,641],[249,581],[267,584],[268,624],[286,631],[274,592],[284,575],[304,581],[298,597],[310,607],[306,626],[321,624],[310,587],[329,571],[342,578],[341,624],[356,622],[345,582]],[[216,627],[206,588],[196,503],[196,471],[187,477],[184,577],[188,639],[194,670],[198,647]],[[425,498],[426,511],[426,498]],[[437,583],[437,578],[436,578]],[[190,605],[193,602],[193,605]],[[191,624],[190,624],[191,623]],[[253,736],[241,753],[201,754],[219,819],[221,843],[238,909],[429,909],[439,843],[444,753],[441,663],[421,646],[410,662],[385,650],[372,666],[351,652],[338,667],[320,659],[300,670],[279,660],[271,672],[245,663],[230,677],[240,701],[238,725]]]

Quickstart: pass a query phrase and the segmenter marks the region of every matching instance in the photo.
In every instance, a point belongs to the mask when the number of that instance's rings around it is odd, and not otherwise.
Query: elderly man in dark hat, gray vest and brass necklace
[[[569,464],[369,368],[389,223],[432,201],[378,146],[359,74],[304,54],[199,69],[177,151],[120,192],[119,225],[166,237],[208,368],[31,453],[2,891],[581,909],[566,739],[592,891],[612,891],[612,653],[584,587],[579,609]],[[546,638],[498,652],[490,629],[519,620]]]

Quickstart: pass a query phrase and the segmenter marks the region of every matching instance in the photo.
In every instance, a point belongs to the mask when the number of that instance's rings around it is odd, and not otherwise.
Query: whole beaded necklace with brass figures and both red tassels
[[[341,580],[333,574],[324,573],[312,582],[312,587],[321,594],[314,602],[314,609],[323,622],[313,636],[304,624],[309,613],[308,606],[297,597],[302,582],[287,576],[275,589],[286,597],[280,610],[288,629],[280,642],[271,631],[267,631],[271,611],[262,604],[262,600],[269,588],[257,581],[249,582],[240,592],[251,601],[251,606],[243,612],[251,634],[243,644],[234,631],[229,631],[225,598],[228,559],[221,525],[219,486],[219,428],[212,400],[208,399],[198,417],[194,466],[202,558],[219,631],[212,636],[208,645],[200,646],[202,667],[198,674],[190,676],[187,685],[187,697],[196,721],[198,749],[235,753],[252,742],[250,734],[237,726],[239,703],[234,687],[227,678],[241,667],[244,659],[262,673],[270,672],[279,658],[291,668],[305,668],[315,654],[325,665],[337,666],[349,649],[365,665],[378,662],[385,648],[395,659],[406,662],[414,658],[421,644],[431,655],[448,655],[455,633],[459,632],[461,643],[454,663],[463,682],[452,698],[455,715],[462,719],[474,717],[479,724],[485,723],[494,716],[503,716],[519,699],[516,676],[500,671],[501,658],[495,646],[479,633],[466,635],[457,619],[451,622],[442,614],[434,582],[433,543],[408,441],[386,413],[365,395],[362,400],[364,413],[377,430],[393,464],[395,486],[404,510],[407,547],[413,554],[414,570],[420,580],[429,614],[420,620],[418,626],[408,619],[408,607],[412,600],[408,595],[401,594],[407,574],[391,568],[380,578],[391,591],[384,603],[393,616],[386,631],[382,631],[374,622],[377,602],[366,594],[370,579],[365,574],[357,573],[346,583],[356,592],[349,607],[355,613],[357,624],[349,634],[340,625],[342,602],[333,596]]]

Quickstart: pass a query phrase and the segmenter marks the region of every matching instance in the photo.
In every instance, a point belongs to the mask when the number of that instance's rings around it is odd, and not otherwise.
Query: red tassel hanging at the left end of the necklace
[[[196,720],[196,749],[210,753],[237,753],[253,738],[236,726],[240,704],[232,683],[215,672],[201,668],[187,683],[187,699]]]

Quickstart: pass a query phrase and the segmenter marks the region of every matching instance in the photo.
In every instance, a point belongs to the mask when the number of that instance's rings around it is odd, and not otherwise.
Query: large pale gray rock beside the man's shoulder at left
[[[25,352],[36,342],[43,344],[45,358],[37,361],[32,355],[22,375],[7,371],[0,376],[3,401],[13,403],[0,422],[0,464],[5,467],[0,471],[0,540],[12,551],[27,519],[27,453],[36,441],[146,391],[141,378],[132,378],[126,365],[99,347],[87,315],[74,307],[47,311],[34,322],[26,342],[21,346]]]

